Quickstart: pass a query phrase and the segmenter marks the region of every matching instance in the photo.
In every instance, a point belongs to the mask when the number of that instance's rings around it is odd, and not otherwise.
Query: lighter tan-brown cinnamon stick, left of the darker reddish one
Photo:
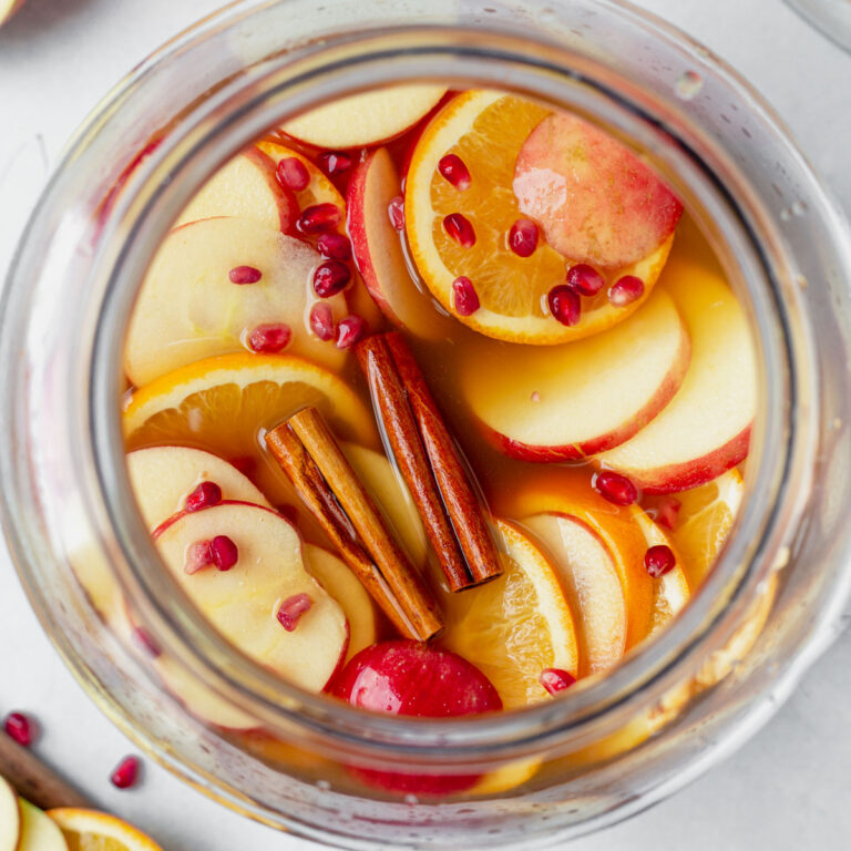
[[[266,434],[293,481],[346,563],[400,633],[427,640],[443,624],[434,599],[396,543],[381,513],[314,408]]]

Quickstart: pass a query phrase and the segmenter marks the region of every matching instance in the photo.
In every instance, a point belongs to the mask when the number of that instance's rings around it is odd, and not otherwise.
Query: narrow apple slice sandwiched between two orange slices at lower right
[[[570,514],[535,514],[523,525],[545,547],[567,594],[580,638],[580,675],[616,665],[626,650],[628,613],[612,552]]]

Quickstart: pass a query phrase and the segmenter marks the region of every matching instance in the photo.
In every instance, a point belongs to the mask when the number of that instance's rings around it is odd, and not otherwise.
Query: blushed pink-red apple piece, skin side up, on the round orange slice
[[[560,254],[607,269],[653,254],[683,214],[676,195],[628,147],[566,112],[544,119],[523,143],[514,194]]]

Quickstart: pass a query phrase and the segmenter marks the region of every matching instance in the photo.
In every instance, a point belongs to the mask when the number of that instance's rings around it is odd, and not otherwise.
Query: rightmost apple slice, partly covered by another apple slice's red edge
[[[663,284],[691,338],[688,372],[653,422],[597,459],[647,493],[696,488],[740,463],[759,394],[753,339],[726,281],[676,257]]]

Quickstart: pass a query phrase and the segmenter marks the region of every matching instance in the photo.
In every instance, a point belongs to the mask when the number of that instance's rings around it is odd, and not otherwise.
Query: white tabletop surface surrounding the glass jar
[[[366,2],[367,0],[365,0]],[[567,1],[567,0],[563,0]],[[132,65],[218,0],[28,0],[0,30],[0,273],[65,140]],[[644,0],[738,68],[851,207],[851,57],[780,0]],[[844,849],[851,835],[848,635],[750,744],[690,788],[576,847],[588,851]],[[0,551],[0,715],[33,712],[37,750],[102,807],[167,851],[310,848],[250,823],[147,763],[119,792],[109,773],[130,745],[88,700],[30,612]]]

